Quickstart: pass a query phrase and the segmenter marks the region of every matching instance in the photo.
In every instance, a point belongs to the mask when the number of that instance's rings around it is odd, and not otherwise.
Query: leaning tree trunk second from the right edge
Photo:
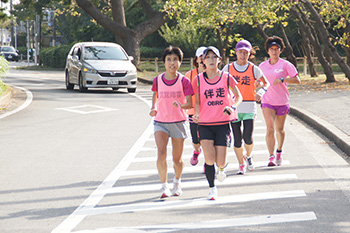
[[[320,46],[316,33],[314,33],[313,27],[309,22],[307,16],[303,13],[302,9],[300,9],[300,6],[298,5],[296,5],[296,8],[293,7],[291,11],[293,15],[296,17],[296,19],[300,21],[299,23],[299,26],[301,26],[300,30],[304,30],[305,34],[307,35],[310,42],[313,44],[315,48],[317,58],[321,63],[324,73],[326,75],[326,82],[335,82],[332,66],[331,64],[328,63],[328,61],[323,56],[322,48]]]

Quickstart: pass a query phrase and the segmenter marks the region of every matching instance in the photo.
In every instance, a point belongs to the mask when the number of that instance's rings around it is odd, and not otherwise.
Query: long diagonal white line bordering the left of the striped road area
[[[139,98],[137,95],[133,95]],[[143,99],[149,107],[150,103]],[[53,229],[52,233],[69,233],[71,232],[81,221],[86,217],[85,215],[78,214],[77,212],[90,209],[95,207],[102,198],[107,194],[103,190],[109,190],[112,188],[120,178],[120,176],[128,169],[135,156],[139,153],[140,149],[146,142],[153,131],[153,122],[150,122],[143,134],[138,138],[133,147],[128,151],[128,153],[123,157],[120,163],[114,168],[114,170],[107,176],[107,178],[100,184],[94,192],[71,214],[69,215],[60,225]]]

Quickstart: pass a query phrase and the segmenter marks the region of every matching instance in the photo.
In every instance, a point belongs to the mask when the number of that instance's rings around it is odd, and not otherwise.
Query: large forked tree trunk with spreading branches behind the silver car
[[[153,9],[148,0],[138,0],[148,20],[130,28],[125,20],[123,0],[109,0],[106,9],[99,9],[92,0],[76,0],[78,6],[88,13],[96,22],[115,35],[137,65],[140,59],[140,43],[151,33],[158,30],[168,20],[165,12]],[[105,13],[106,12],[106,13]],[[109,14],[110,13],[110,14]]]

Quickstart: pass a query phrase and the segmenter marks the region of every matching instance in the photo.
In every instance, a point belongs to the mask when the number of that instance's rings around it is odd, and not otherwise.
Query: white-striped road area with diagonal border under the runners
[[[150,104],[149,92],[138,93],[138,98]],[[289,183],[298,180],[297,174],[289,169],[267,167],[268,152],[265,146],[265,125],[261,114],[255,122],[254,162],[256,169],[244,176],[236,175],[238,164],[233,149],[229,149],[227,178],[216,181],[219,198],[207,200],[208,183],[203,174],[203,155],[197,166],[190,165],[191,140],[185,141],[183,160],[185,168],[182,177],[183,195],[160,200],[160,181],[156,169],[156,145],[153,126],[150,123],[143,136],[126,154],[120,164],[104,182],[52,232],[103,233],[103,232],[198,232],[205,229],[229,229],[244,226],[262,226],[290,222],[316,221],[314,211],[300,209],[289,211],[283,200],[307,198],[300,189],[289,188]],[[190,135],[190,134],[188,134]],[[168,145],[168,181],[171,184],[173,169],[171,143]],[[290,166],[286,158],[284,168]],[[280,202],[280,209],[264,208]],[[252,206],[255,206],[252,208]],[[250,211],[237,211],[249,209]],[[206,214],[201,214],[206,212]],[[294,210],[294,209],[293,209]],[[174,214],[176,213],[176,214]],[[254,214],[256,213],[256,214]],[[87,219],[113,219],[114,225],[78,227]],[[154,216],[154,217],[152,217]],[[197,220],[191,216],[197,216]],[[103,222],[103,221],[102,221]],[[102,224],[103,225],[103,224]]]

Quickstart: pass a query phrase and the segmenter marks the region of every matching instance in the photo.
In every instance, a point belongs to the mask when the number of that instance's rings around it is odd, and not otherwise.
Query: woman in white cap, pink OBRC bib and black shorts
[[[206,71],[193,79],[196,94],[195,115],[198,132],[205,158],[205,175],[209,183],[209,200],[218,196],[215,186],[215,167],[219,168],[217,178],[226,178],[227,147],[229,146],[230,122],[237,119],[237,106],[242,101],[236,80],[227,72],[218,69],[221,61],[217,48],[209,46],[204,52]],[[230,88],[235,95],[235,102]]]

